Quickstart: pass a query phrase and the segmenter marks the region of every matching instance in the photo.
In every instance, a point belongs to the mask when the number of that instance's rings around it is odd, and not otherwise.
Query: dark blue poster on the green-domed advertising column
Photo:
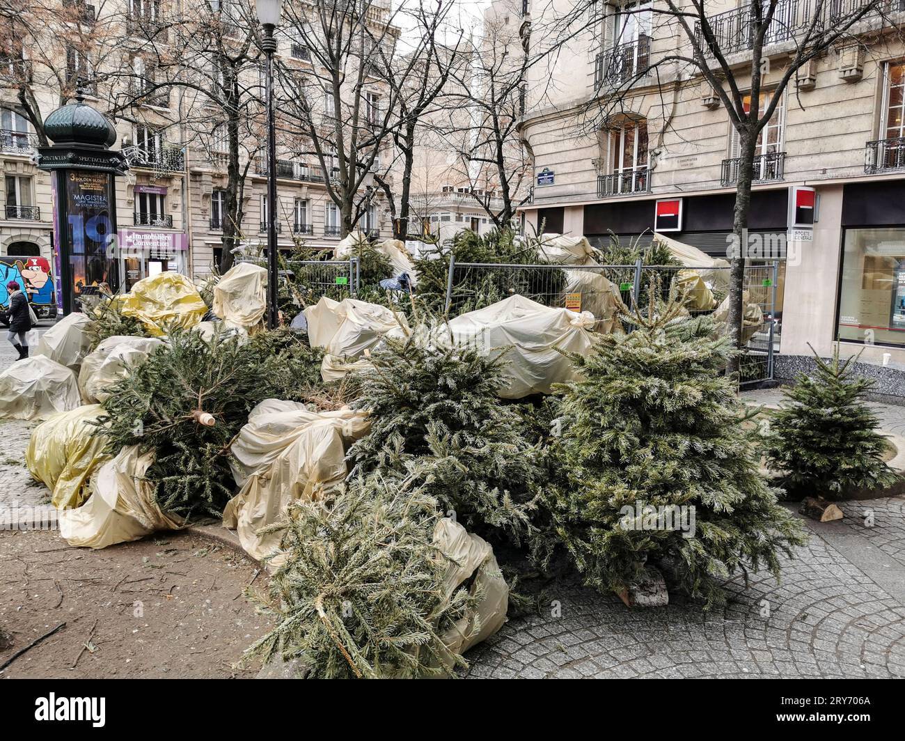
[[[113,188],[110,173],[71,170],[66,174],[70,267],[76,301],[88,287],[107,284],[113,292],[119,287],[114,259],[117,237],[111,213]]]

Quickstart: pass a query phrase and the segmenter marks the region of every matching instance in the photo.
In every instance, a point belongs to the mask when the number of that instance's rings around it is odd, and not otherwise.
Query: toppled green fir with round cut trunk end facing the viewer
[[[148,360],[110,387],[99,434],[116,455],[123,446],[153,451],[148,478],[157,505],[189,516],[219,516],[233,495],[233,436],[262,399],[300,399],[319,380],[319,351],[291,332],[259,332],[249,342],[174,332]]]

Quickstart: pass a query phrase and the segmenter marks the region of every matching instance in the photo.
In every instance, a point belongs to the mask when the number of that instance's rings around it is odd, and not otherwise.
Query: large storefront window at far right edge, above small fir
[[[905,228],[845,231],[839,339],[905,345]]]

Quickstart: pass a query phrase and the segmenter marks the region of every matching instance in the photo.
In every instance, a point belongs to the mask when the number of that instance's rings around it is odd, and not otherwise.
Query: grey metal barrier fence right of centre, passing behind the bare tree
[[[742,325],[746,341],[740,363],[740,383],[748,385],[773,378],[773,358],[778,349],[776,322],[777,260],[745,265]],[[680,271],[694,271],[717,287],[713,301],[708,300],[693,275],[679,276]],[[606,281],[595,276],[602,275]],[[682,280],[683,294],[689,313],[694,315],[719,312],[729,286],[729,267],[686,265],[516,265],[495,263],[456,263],[450,261],[446,283],[446,313],[457,316],[519,294],[545,306],[562,306],[574,311],[591,311],[611,305],[617,292],[627,307],[647,304],[652,281],[659,279],[660,290],[668,294],[676,279]],[[691,278],[691,280],[688,280]],[[719,290],[719,286],[727,290]],[[710,304],[706,309],[695,305]],[[721,315],[721,313],[720,313]],[[601,318],[598,316],[598,319]],[[624,322],[625,323],[625,322]],[[632,326],[625,327],[627,331]]]

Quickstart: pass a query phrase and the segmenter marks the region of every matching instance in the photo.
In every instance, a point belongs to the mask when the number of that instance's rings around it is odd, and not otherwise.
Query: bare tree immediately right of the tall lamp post
[[[387,181],[385,151],[396,92],[387,84],[398,29],[372,0],[284,6],[280,34],[298,46],[304,66],[278,66],[281,147],[316,160],[347,235],[376,205],[375,178]]]

